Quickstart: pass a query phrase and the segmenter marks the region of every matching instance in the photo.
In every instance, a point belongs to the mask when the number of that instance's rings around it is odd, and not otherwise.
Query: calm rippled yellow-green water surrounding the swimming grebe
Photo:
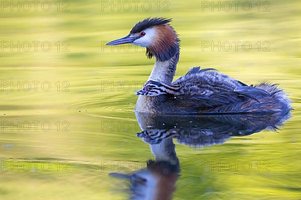
[[[149,11],[144,1],[129,11],[110,1],[49,2],[49,11],[1,7],[0,199],[127,199],[147,193],[144,179],[118,177],[141,170],[167,175],[174,199],[301,198],[300,1],[258,8],[251,0],[250,11],[241,4],[211,11],[196,0],[159,1],[160,8],[149,1]],[[134,93],[154,60],[140,47],[104,43],[146,16],[174,18],[182,40],[177,77],[201,65],[246,83],[279,83],[291,118],[279,126],[286,116],[144,116],[138,124]],[[263,130],[275,124],[277,131]]]

